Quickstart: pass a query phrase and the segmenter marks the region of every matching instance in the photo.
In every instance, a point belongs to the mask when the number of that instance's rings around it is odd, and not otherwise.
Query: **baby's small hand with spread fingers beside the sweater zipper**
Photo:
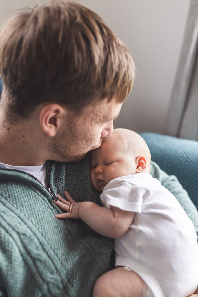
[[[54,200],[54,203],[66,212],[64,214],[55,214],[55,217],[57,219],[80,219],[79,207],[82,202],[76,202],[67,191],[64,194],[66,199],[57,194],[58,201]]]

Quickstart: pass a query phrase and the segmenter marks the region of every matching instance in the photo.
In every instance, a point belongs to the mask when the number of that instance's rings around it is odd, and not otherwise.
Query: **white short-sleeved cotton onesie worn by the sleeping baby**
[[[198,286],[193,223],[177,199],[148,173],[118,177],[100,195],[103,206],[135,212],[129,230],[114,239],[115,266],[128,266],[154,297],[186,297]]]

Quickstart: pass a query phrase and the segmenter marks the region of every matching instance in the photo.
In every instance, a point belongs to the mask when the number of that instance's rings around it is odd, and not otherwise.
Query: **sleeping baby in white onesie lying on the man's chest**
[[[150,173],[151,154],[143,138],[114,129],[91,151],[91,182],[102,192],[102,206],[75,202],[68,192],[54,201],[96,232],[114,238],[116,268],[103,274],[94,297],[185,297],[198,285],[198,247],[194,225],[176,198]],[[141,173],[141,174],[137,174]],[[115,284],[115,292],[111,286]],[[121,294],[121,293],[120,293]],[[122,295],[120,295],[122,296]],[[126,296],[126,294],[124,295]],[[127,295],[128,296],[128,295]]]

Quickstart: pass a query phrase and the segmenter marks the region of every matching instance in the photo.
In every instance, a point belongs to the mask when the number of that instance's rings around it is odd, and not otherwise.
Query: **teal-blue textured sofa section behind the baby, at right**
[[[151,132],[140,134],[152,160],[169,175],[175,175],[198,209],[198,141]]]

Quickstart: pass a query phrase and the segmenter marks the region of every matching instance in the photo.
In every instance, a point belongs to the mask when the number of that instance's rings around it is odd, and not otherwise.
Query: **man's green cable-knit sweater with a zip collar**
[[[151,174],[172,191],[197,228],[197,210],[177,179],[155,163]],[[51,162],[48,187],[53,194],[67,190],[76,201],[101,205],[90,182],[89,156]],[[96,279],[113,267],[112,239],[81,220],[56,219],[62,211],[28,173],[0,169],[0,191],[0,296],[92,296]]]

